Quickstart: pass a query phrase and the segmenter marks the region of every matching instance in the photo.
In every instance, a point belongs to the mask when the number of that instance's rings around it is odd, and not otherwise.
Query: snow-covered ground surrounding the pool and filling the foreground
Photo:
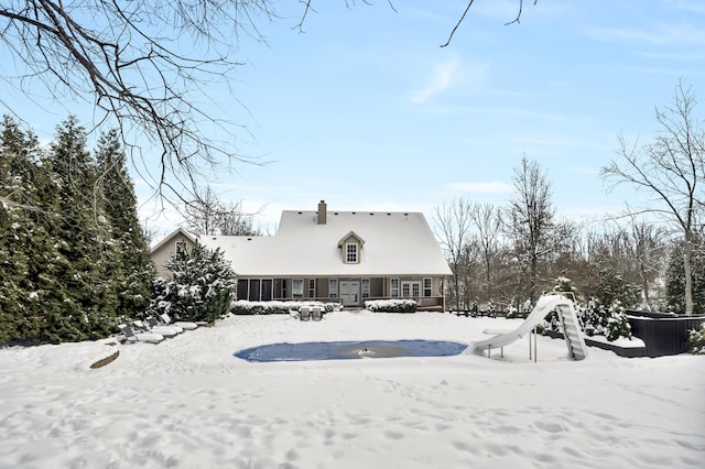
[[[508,324],[516,323],[516,324]],[[538,338],[505,358],[252,363],[274,342],[468,342],[520,319],[231,316],[160,345],[0,350],[0,468],[702,467],[705,360]],[[111,363],[90,369],[116,350]]]

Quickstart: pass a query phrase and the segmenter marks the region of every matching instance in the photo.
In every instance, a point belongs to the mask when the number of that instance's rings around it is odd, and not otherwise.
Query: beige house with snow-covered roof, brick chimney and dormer
[[[220,248],[238,275],[238,299],[414,298],[444,308],[451,269],[421,212],[285,210],[274,236],[196,236],[178,229],[152,249],[160,274],[176,243]]]

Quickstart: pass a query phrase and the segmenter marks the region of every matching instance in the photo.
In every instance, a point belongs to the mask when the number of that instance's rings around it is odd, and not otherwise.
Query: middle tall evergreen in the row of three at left
[[[117,298],[106,252],[109,226],[101,214],[97,171],[86,150],[86,131],[74,117],[56,129],[56,140],[45,160],[58,184],[59,222],[52,237],[67,268],[55,275],[66,286],[63,308],[51,320],[67,340],[105,337],[112,326]]]

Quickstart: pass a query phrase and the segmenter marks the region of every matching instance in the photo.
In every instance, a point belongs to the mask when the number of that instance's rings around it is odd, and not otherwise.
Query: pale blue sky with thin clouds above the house
[[[649,141],[654,106],[671,105],[681,79],[705,97],[699,0],[524,1],[513,25],[518,0],[476,0],[447,47],[464,0],[398,0],[395,11],[321,0],[303,33],[300,3],[274,3],[284,10],[262,23],[268,43],[242,36],[230,58],[246,65],[207,88],[215,112],[245,126],[232,129],[234,152],[267,162],[237,164],[212,186],[271,230],[282,209],[319,199],[429,221],[455,197],[503,204],[524,154],[547,173],[560,215],[596,219],[631,197],[608,195],[598,174],[617,135]],[[173,210],[150,221],[178,222]]]

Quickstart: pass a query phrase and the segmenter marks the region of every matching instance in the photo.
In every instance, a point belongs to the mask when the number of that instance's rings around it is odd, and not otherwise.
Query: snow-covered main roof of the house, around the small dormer
[[[364,241],[359,263],[344,263],[339,241],[350,232]],[[451,269],[421,212],[282,212],[275,236],[199,236],[220,248],[242,276],[451,275]],[[361,243],[362,244],[362,243]]]

